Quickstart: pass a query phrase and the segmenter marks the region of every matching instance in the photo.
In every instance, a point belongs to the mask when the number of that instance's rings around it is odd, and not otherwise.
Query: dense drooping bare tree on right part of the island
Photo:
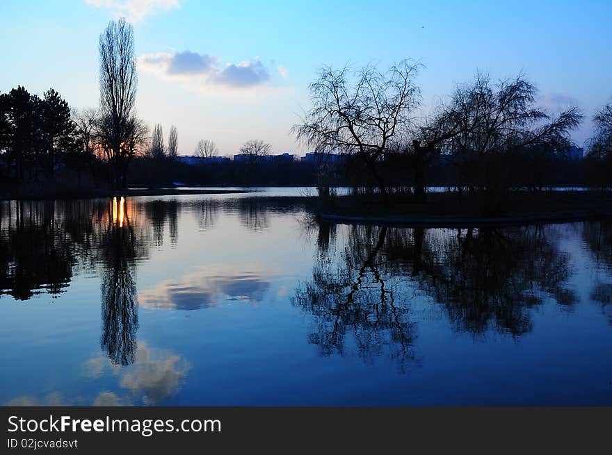
[[[551,117],[536,106],[536,94],[536,86],[521,75],[494,84],[478,73],[472,83],[456,87],[425,129],[434,138],[442,135],[458,169],[458,188],[478,194],[486,215],[500,212],[515,180],[509,170],[518,152],[562,151],[581,122],[577,108]]]

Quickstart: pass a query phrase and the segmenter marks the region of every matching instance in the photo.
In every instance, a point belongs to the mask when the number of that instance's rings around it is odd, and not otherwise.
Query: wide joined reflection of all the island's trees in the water
[[[324,355],[344,354],[351,336],[371,361],[383,351],[414,359],[410,304],[433,299],[458,331],[531,331],[531,308],[577,301],[569,256],[554,228],[423,229],[318,223],[312,279],[293,303],[313,316],[309,341]],[[338,235],[341,230],[344,236]],[[344,242],[344,251],[339,243]],[[424,294],[424,295],[423,295]],[[412,318],[414,319],[414,318]]]

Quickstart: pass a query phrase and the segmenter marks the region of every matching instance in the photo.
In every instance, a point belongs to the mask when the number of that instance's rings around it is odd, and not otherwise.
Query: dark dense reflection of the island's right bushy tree
[[[577,300],[567,287],[569,256],[550,239],[554,235],[526,226],[428,236],[419,286],[446,308],[458,330],[520,336],[533,328],[529,308],[547,298],[565,307]]]

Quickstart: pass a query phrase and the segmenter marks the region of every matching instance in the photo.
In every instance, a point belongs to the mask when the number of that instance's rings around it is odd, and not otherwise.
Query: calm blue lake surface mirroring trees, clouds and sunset
[[[612,222],[317,224],[274,193],[0,202],[0,404],[612,404]]]

